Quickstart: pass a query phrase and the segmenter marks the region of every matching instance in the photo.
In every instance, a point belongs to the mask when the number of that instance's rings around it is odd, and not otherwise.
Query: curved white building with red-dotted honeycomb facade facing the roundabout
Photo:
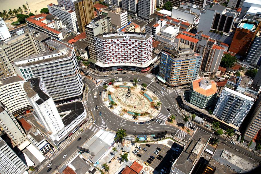
[[[95,37],[99,67],[148,67],[152,60],[152,36],[145,33],[116,32]]]

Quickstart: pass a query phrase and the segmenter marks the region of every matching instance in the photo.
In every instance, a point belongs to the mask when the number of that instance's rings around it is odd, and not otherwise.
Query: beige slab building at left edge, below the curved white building
[[[15,146],[19,146],[26,141],[24,130],[9,109],[2,103],[0,103],[0,127],[9,136]]]

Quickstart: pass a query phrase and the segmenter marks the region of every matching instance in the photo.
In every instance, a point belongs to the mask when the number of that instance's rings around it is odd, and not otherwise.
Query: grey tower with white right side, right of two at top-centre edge
[[[149,20],[150,15],[155,11],[155,0],[139,0],[138,1],[138,16]]]

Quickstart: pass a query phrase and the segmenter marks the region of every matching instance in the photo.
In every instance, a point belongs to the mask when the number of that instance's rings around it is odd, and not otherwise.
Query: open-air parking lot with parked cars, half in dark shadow
[[[149,143],[148,143],[149,144]],[[150,147],[146,146],[145,144],[140,144],[141,150],[139,150],[138,154],[141,155],[141,157],[136,156],[136,158],[141,159],[143,162],[146,162],[150,156],[153,156],[155,159],[152,160],[151,164],[149,164],[150,167],[152,167],[154,170],[160,172],[161,169],[164,169],[164,172],[169,172],[170,167],[172,163],[174,162],[173,159],[176,159],[178,157],[178,153],[175,151],[177,147],[180,147],[175,142],[172,141],[168,142],[168,145],[172,146],[170,148],[169,146],[166,146],[164,144],[149,144]],[[159,155],[163,156],[163,159],[159,160],[156,157],[158,155],[154,154],[153,152],[156,150],[156,148],[160,148],[161,151],[159,152]],[[145,148],[147,151],[145,152],[143,150]],[[171,162],[172,161],[172,162]],[[162,173],[164,173],[162,172]]]

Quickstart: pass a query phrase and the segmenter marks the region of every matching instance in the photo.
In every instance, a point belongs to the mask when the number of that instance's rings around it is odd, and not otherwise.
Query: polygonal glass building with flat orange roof
[[[218,94],[217,83],[208,78],[193,80],[189,91],[189,103],[204,109],[215,102]]]

